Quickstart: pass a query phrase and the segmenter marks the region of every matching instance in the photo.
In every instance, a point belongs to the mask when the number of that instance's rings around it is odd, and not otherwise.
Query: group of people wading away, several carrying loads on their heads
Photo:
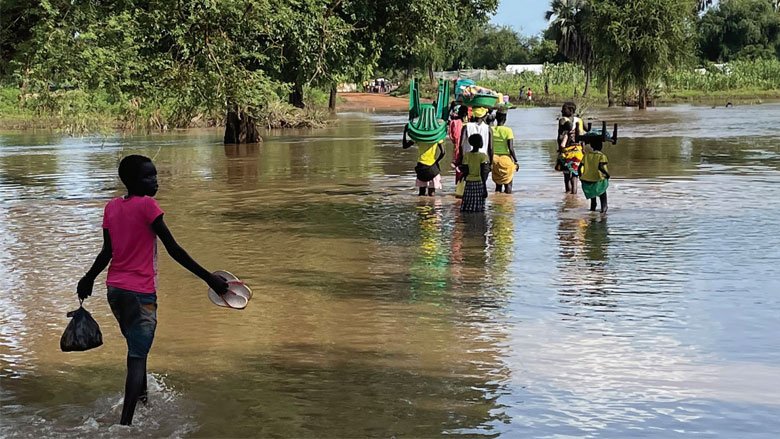
[[[591,200],[591,210],[596,210],[596,199],[599,199],[601,212],[606,213],[610,174],[607,156],[602,151],[603,140],[592,137],[588,142],[590,148],[585,151],[580,141],[586,134],[584,123],[575,116],[576,111],[573,102],[561,107],[555,169],[563,174],[566,193],[577,194],[578,186],[582,185],[584,195]],[[514,149],[514,133],[506,121],[506,106],[495,110],[456,104],[450,107],[447,127],[447,137],[453,145],[450,166],[455,171],[455,195],[462,199],[461,211],[485,210],[488,175],[492,175],[497,193],[512,193],[514,174],[520,166]],[[402,144],[404,149],[415,145],[407,138],[406,130]],[[415,185],[419,196],[433,196],[442,188],[439,163],[445,156],[444,141],[417,143],[417,147]]]

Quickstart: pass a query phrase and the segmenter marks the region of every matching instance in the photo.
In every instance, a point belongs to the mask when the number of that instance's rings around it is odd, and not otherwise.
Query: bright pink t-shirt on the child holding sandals
[[[163,211],[152,197],[114,198],[103,212],[111,236],[106,285],[136,293],[157,291],[157,235],[152,222]]]

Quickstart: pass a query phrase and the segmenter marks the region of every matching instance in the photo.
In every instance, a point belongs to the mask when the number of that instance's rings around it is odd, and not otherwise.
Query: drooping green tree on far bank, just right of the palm
[[[616,82],[639,93],[647,108],[649,90],[664,73],[681,67],[693,51],[695,0],[591,0],[586,29],[595,59]]]

